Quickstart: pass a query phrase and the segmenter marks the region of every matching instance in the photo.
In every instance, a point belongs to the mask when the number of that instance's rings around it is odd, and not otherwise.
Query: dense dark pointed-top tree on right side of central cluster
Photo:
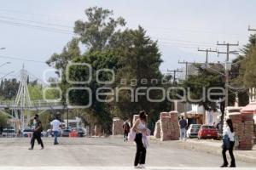
[[[119,69],[116,73],[116,88],[147,88],[162,87],[159,67],[162,62],[157,42],[146,36],[143,27],[136,30],[125,30],[115,35],[113,42],[119,44],[116,49],[119,53]],[[152,81],[155,80],[155,81]],[[136,81],[136,82],[135,82]],[[152,99],[161,99],[159,91],[150,93]],[[148,113],[148,121],[153,124],[157,121],[159,112],[170,110],[170,102],[150,102],[145,95],[138,96],[138,102],[131,100],[131,91],[119,91],[119,101],[113,102],[112,112],[114,116],[123,119],[132,119],[138,111],[145,110]]]

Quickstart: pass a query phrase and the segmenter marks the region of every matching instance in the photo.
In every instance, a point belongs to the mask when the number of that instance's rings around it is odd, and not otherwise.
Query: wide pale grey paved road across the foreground
[[[3,166],[77,166],[132,167],[136,147],[121,138],[61,138],[53,145],[52,138],[44,138],[45,149],[35,145],[28,150],[30,139],[0,139],[0,169]],[[176,142],[150,141],[147,167],[218,167],[219,156],[177,148]],[[238,167],[256,167],[237,161]],[[106,169],[106,168],[105,168]]]

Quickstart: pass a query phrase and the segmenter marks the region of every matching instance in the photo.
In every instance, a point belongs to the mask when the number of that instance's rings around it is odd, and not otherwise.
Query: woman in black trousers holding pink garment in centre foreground
[[[134,141],[137,144],[137,152],[134,161],[135,168],[145,168],[147,141],[147,116],[145,111],[140,111],[139,119],[135,122],[132,130],[136,132]]]

